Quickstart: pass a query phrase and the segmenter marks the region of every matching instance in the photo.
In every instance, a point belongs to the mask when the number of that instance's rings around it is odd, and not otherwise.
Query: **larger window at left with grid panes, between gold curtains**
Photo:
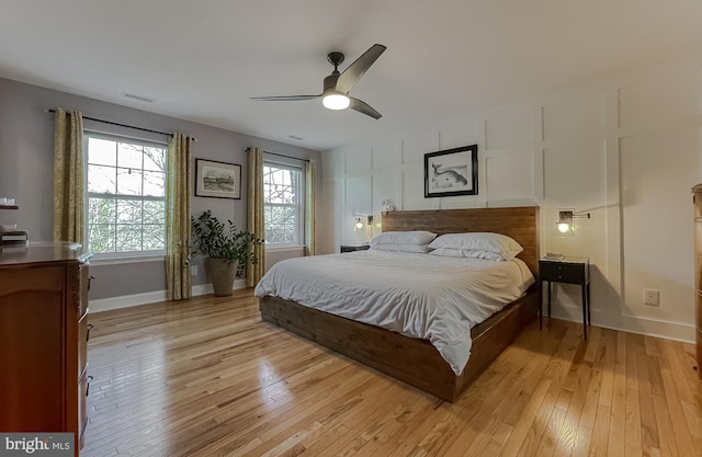
[[[84,138],[88,249],[163,253],[166,145],[88,132]]]

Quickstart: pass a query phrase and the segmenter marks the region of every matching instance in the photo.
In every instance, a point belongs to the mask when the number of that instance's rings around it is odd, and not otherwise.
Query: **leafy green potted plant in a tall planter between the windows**
[[[210,271],[215,296],[231,295],[234,279],[242,277],[247,264],[258,263],[253,245],[262,239],[246,230],[237,230],[231,220],[219,221],[207,209],[197,218],[191,217],[195,252],[207,256],[205,266]]]

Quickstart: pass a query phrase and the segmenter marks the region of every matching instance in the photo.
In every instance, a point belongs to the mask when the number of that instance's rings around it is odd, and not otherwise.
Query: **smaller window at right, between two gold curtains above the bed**
[[[304,174],[299,167],[263,163],[265,244],[303,245]]]

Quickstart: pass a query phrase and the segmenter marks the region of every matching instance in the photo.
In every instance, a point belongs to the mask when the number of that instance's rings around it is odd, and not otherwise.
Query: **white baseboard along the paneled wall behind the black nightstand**
[[[544,306],[545,308],[545,306]],[[552,309],[552,317],[582,323],[582,308],[558,306]],[[633,316],[618,316],[611,312],[590,310],[592,325],[604,329],[638,333],[665,340],[694,344],[694,325],[680,322],[666,322]]]

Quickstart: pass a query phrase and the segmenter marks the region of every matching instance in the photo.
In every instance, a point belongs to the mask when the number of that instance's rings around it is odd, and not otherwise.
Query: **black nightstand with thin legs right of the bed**
[[[548,283],[548,317],[551,317],[551,283],[578,284],[582,294],[582,336],[588,339],[590,324],[590,259],[565,256],[561,260],[539,259],[539,277]],[[539,309],[539,328],[542,328],[543,310]]]

